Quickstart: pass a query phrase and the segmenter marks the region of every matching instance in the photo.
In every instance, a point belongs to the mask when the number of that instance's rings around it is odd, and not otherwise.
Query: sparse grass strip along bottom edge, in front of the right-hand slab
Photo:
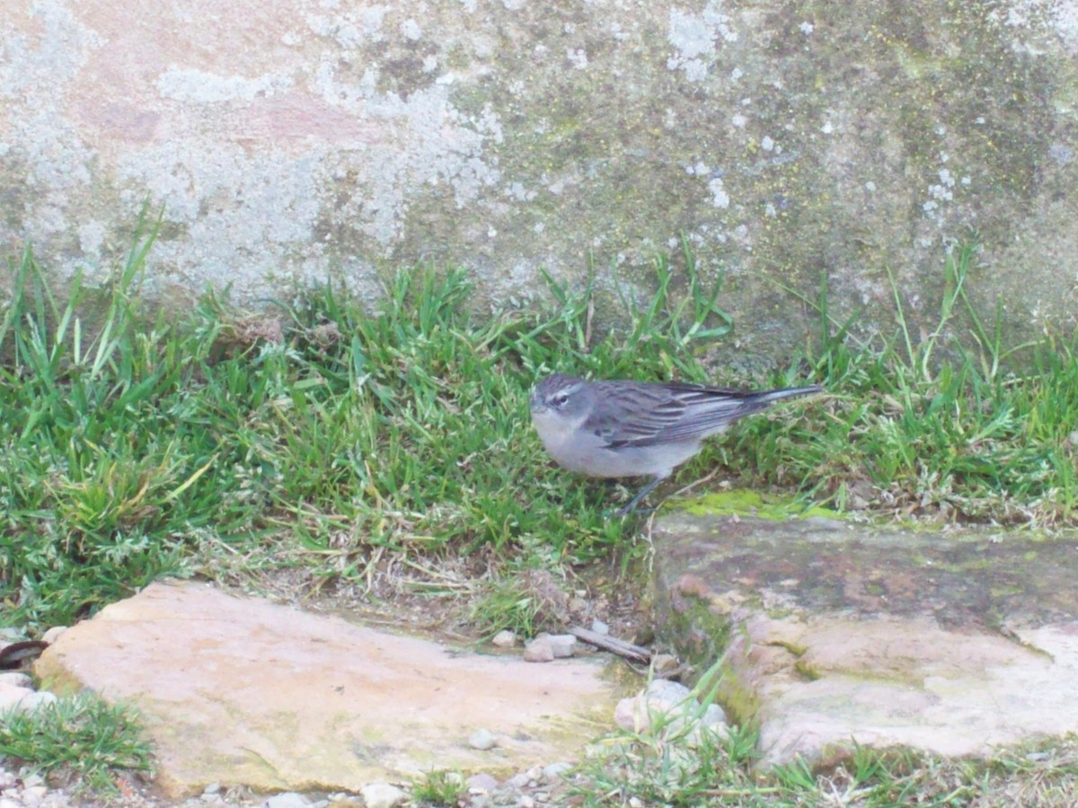
[[[755,767],[750,732],[689,748],[661,734],[621,734],[572,778],[581,806],[857,806],[938,808],[1074,805],[1078,739],[997,751],[989,760],[853,747],[826,764]]]

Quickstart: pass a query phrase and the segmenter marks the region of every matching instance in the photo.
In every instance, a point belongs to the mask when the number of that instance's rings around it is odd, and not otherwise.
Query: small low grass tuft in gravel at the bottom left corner
[[[73,696],[0,715],[0,756],[101,797],[119,795],[116,778],[152,770],[138,713],[95,696]]]

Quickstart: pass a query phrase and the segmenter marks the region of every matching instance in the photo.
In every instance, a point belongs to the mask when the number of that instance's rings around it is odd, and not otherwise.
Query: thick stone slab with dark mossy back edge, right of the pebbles
[[[1076,537],[674,513],[653,541],[660,636],[727,654],[769,763],[1078,732]]]

